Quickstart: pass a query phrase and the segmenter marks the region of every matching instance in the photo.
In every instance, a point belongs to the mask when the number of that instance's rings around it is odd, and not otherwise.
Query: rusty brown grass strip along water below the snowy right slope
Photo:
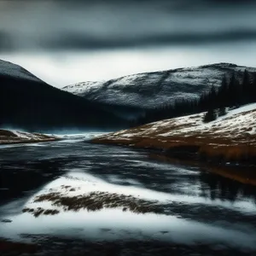
[[[203,142],[190,143],[189,140],[177,141],[177,137],[172,137],[165,142],[159,142],[154,138],[125,141],[118,138],[116,140],[108,139],[108,136],[93,138],[90,143],[145,149],[177,160],[193,160],[219,166],[225,166],[227,163],[234,166],[237,164],[256,166],[256,148],[254,145],[245,145],[244,143],[236,145],[214,143],[211,145],[211,143],[204,144]]]

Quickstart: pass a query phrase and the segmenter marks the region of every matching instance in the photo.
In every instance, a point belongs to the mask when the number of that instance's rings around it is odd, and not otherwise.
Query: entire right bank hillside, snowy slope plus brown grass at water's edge
[[[92,142],[160,149],[182,159],[255,163],[256,103],[230,110],[207,124],[203,116],[199,113],[165,119],[109,133]]]

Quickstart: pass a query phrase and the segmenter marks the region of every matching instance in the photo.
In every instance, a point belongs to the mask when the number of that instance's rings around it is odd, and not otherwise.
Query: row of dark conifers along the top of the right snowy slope
[[[230,79],[224,76],[218,88],[212,86],[199,98],[179,99],[174,103],[150,109],[132,125],[143,125],[161,119],[172,119],[201,112],[207,112],[204,119],[207,122],[216,118],[217,109],[218,115],[224,115],[227,107],[239,107],[252,102],[256,102],[256,73],[248,73],[245,70],[240,81],[234,72]]]

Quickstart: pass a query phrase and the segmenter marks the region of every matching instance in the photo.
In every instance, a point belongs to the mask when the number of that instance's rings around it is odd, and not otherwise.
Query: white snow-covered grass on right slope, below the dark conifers
[[[252,136],[256,135],[256,103],[248,104],[241,108],[230,110],[218,119],[204,123],[205,113],[196,113],[175,119],[165,119],[148,125],[142,125],[130,130],[118,131],[99,139],[107,140],[134,140],[135,138],[172,138],[191,137],[197,138],[219,137],[230,138],[234,142],[237,137],[243,137],[243,142],[253,143]],[[162,140],[162,142],[164,142]]]

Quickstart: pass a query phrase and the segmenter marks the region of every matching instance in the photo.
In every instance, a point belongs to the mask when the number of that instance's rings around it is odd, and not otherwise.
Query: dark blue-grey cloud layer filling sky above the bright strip
[[[0,1],[0,49],[101,49],[256,39],[253,0]]]

